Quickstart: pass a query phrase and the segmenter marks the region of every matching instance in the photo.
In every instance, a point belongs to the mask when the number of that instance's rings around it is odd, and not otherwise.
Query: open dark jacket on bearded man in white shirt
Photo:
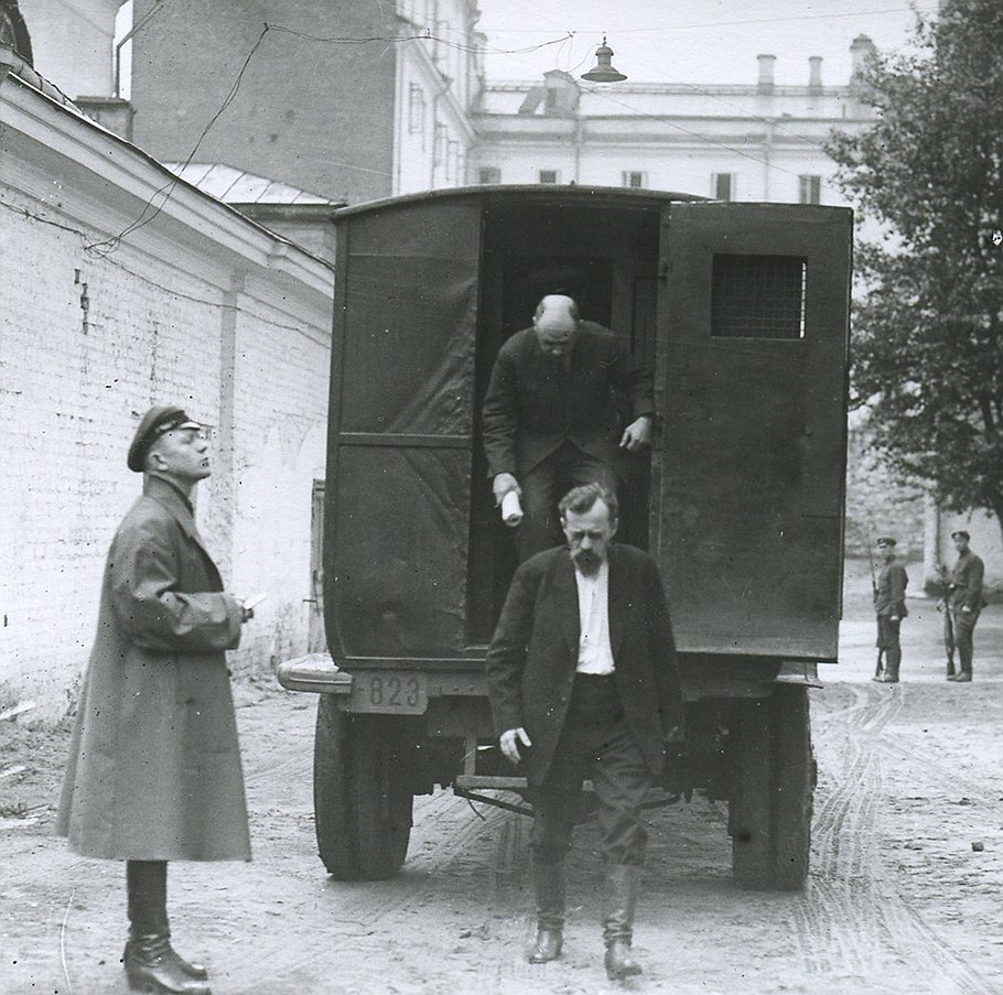
[[[522,727],[532,740],[528,776],[550,769],[568,715],[579,652],[578,587],[564,548],[538,553],[513,578],[487,651],[495,727]],[[610,550],[610,642],[627,724],[653,772],[665,760],[665,737],[682,729],[676,645],[655,561],[630,545]]]

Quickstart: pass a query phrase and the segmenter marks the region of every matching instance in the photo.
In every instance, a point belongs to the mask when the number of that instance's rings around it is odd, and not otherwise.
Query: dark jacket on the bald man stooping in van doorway
[[[602,325],[582,323],[570,368],[543,353],[532,328],[517,332],[498,350],[484,399],[488,475],[525,474],[565,440],[614,466],[624,430],[614,391],[632,420],[654,413],[650,372]]]

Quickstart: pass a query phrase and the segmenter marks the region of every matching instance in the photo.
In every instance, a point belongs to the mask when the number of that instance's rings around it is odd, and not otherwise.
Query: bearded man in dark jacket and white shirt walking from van
[[[641,803],[682,736],[683,702],[655,561],[612,545],[616,498],[597,484],[560,501],[568,548],[524,563],[487,652],[502,751],[532,792],[537,941],[531,963],[560,955],[563,861],[591,772],[603,833],[606,972],[640,972],[630,954],[647,834]]]

